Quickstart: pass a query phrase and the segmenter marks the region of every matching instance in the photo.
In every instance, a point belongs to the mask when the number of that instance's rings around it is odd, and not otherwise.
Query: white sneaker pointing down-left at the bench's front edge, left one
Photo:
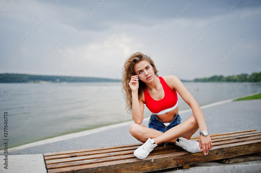
[[[134,151],[134,156],[139,159],[145,159],[149,153],[157,146],[153,139],[149,138],[147,141]]]

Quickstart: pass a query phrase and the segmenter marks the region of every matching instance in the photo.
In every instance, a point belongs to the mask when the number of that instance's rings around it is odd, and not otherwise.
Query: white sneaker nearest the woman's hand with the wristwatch
[[[194,140],[188,140],[186,138],[179,138],[179,142],[176,141],[175,143],[177,146],[181,146],[184,150],[188,152],[198,152],[199,150],[199,142]]]

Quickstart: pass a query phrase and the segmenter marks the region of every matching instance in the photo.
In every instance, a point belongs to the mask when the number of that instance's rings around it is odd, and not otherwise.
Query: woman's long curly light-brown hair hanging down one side
[[[156,69],[156,66],[154,65],[154,62],[152,61],[152,59],[149,56],[144,55],[141,52],[136,52],[127,58],[127,60],[125,61],[125,64],[123,65],[123,68],[122,68],[122,77],[123,78],[122,78],[121,91],[122,91],[124,99],[125,99],[126,111],[128,113],[131,113],[131,111],[132,111],[132,91],[131,91],[131,88],[129,87],[129,82],[131,80],[131,76],[136,75],[136,73],[134,71],[135,65],[143,60],[146,60],[150,63],[150,65],[155,69],[154,74],[156,76],[158,76],[158,71]],[[144,91],[146,84],[141,80],[138,80],[138,82],[139,82],[138,98],[140,99],[142,97],[142,93]]]

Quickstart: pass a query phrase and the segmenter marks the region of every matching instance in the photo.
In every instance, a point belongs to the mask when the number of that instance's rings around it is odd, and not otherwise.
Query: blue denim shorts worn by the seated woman
[[[164,132],[168,131],[169,129],[171,129],[172,127],[175,127],[176,125],[178,125],[180,123],[182,123],[182,120],[181,120],[179,114],[176,114],[176,116],[173,118],[173,120],[167,126],[165,126],[165,124],[162,121],[160,121],[156,117],[156,115],[151,115],[148,127],[164,133]],[[168,145],[169,145],[169,143],[165,143],[164,146],[168,146]]]

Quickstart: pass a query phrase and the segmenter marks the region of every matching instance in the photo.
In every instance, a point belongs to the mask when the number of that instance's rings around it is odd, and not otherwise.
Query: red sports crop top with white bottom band
[[[174,110],[178,106],[177,92],[170,89],[162,77],[158,77],[164,89],[164,98],[161,100],[154,100],[147,88],[144,89],[145,104],[149,110],[155,115],[162,115],[164,113]]]

